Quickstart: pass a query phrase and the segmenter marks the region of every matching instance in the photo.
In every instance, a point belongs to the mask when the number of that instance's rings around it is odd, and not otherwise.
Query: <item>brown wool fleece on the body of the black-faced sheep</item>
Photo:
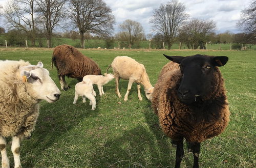
[[[201,143],[222,133],[229,122],[229,108],[224,82],[216,67],[215,85],[200,107],[179,101],[177,90],[181,80],[178,64],[169,62],[160,72],[152,98],[152,107],[159,117],[162,130],[176,140]]]

